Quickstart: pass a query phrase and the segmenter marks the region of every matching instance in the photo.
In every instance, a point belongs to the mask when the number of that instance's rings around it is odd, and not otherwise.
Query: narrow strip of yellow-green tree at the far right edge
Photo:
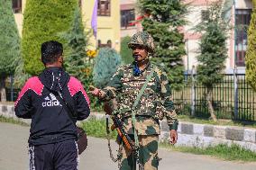
[[[252,1],[251,22],[247,34],[248,48],[245,56],[246,80],[256,91],[256,0]]]

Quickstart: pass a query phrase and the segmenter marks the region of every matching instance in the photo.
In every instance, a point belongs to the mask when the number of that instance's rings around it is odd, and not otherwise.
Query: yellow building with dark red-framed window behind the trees
[[[120,3],[119,0],[97,0],[97,36],[92,37],[94,47],[111,47],[120,51]],[[84,22],[91,25],[95,0],[80,1]]]

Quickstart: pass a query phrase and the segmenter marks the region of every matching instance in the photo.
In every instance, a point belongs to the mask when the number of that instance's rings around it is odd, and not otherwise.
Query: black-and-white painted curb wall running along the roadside
[[[0,104],[0,115],[26,123],[31,122],[31,120],[17,118],[14,113],[14,105]],[[105,114],[91,112],[89,117],[105,119]],[[169,140],[169,126],[166,121],[160,121],[160,141],[165,140]],[[237,144],[256,152],[256,129],[183,121],[178,123],[178,146],[206,148],[218,144],[227,144],[228,146]]]

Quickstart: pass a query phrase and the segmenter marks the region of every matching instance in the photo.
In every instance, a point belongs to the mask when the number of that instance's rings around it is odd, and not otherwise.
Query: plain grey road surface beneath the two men
[[[29,127],[0,122],[0,170],[27,170]],[[114,143],[113,143],[113,146]],[[114,149],[115,151],[115,149]],[[227,153],[228,154],[228,153]],[[160,170],[255,170],[254,163],[229,162],[212,157],[169,152],[160,148]],[[106,139],[89,138],[80,156],[79,170],[114,170]]]

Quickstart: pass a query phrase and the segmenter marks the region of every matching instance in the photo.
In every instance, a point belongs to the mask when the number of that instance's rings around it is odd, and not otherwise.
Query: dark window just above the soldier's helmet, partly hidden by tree
[[[131,22],[135,20],[134,9],[131,10],[122,10],[121,11],[121,27],[130,27],[133,26]]]

